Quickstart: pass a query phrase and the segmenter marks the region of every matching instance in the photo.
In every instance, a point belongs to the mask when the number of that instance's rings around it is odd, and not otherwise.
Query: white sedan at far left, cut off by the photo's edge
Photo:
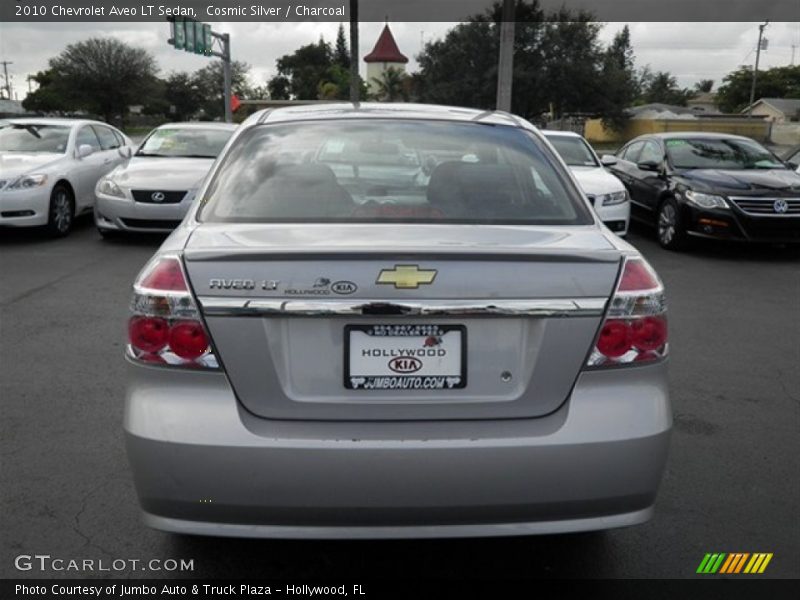
[[[130,155],[131,140],[99,121],[25,118],[0,126],[0,226],[67,235],[94,207],[97,180]]]

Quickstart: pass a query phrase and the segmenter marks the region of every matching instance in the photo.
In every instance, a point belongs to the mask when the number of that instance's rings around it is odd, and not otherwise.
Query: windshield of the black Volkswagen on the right
[[[667,156],[676,169],[784,169],[772,153],[751,140],[667,140]]]

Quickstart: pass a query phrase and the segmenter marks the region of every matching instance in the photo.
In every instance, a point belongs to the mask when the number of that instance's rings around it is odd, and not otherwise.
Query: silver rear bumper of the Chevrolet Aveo
[[[666,365],[588,372],[536,419],[291,422],[221,373],[130,365],[125,433],[145,522],[247,537],[457,537],[650,518],[667,456]]]

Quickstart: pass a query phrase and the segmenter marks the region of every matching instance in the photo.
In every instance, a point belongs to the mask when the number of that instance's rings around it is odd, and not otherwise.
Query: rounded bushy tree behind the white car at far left
[[[141,104],[155,85],[157,72],[149,52],[113,38],[70,44],[50,59],[49,66],[37,90],[41,93],[28,102],[29,106],[82,109],[109,122],[124,118],[128,106]]]

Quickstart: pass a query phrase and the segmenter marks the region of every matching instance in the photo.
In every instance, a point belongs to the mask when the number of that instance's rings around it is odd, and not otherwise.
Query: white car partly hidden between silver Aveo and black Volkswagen
[[[589,202],[606,227],[617,235],[628,233],[631,203],[622,182],[605,167],[615,164],[613,157],[601,162],[582,136],[571,131],[542,131],[559,156],[567,163]]]

